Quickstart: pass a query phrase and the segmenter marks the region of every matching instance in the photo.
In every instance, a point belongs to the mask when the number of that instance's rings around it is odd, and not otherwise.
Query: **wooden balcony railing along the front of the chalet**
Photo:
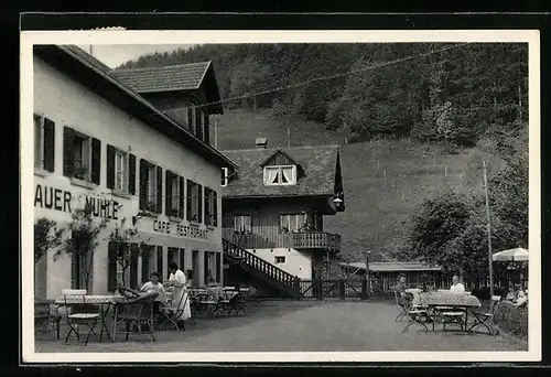
[[[240,234],[234,229],[225,228],[223,237],[244,249],[292,248],[341,251],[341,236],[327,231],[291,231],[269,238],[257,234]]]

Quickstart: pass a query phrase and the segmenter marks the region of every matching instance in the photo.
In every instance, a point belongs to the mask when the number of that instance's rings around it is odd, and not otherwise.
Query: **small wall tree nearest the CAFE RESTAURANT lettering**
[[[117,263],[122,270],[122,286],[126,286],[126,271],[131,266],[133,257],[139,257],[145,250],[145,241],[141,239],[137,228],[125,226],[126,217],[117,224],[109,235],[109,240],[117,245]]]

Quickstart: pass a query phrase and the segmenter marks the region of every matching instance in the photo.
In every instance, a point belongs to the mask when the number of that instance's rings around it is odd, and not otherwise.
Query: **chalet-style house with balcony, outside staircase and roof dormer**
[[[345,211],[339,148],[266,147],[257,140],[256,149],[224,152],[239,166],[223,170],[225,279],[242,283],[249,274],[296,294],[298,280],[316,278],[323,258],[341,251],[341,236],[323,222]]]

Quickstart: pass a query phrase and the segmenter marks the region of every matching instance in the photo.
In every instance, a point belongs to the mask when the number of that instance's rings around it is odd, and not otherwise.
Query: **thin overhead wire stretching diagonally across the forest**
[[[440,50],[435,50],[435,51],[430,51],[428,53],[412,55],[412,56],[408,56],[408,57],[403,57],[403,58],[398,58],[398,60],[386,62],[386,63],[381,63],[381,64],[369,64],[369,65],[365,66],[364,68],[353,69],[353,71],[348,71],[348,72],[342,73],[342,74],[335,74],[335,75],[329,75],[329,76],[315,77],[315,78],[312,78],[312,79],[309,79],[309,80],[305,80],[305,82],[302,82],[302,83],[296,83],[296,84],[291,84],[291,85],[285,85],[285,86],[279,86],[279,87],[276,87],[273,89],[260,90],[260,91],[257,91],[257,93],[248,93],[248,94],[245,94],[245,95],[241,95],[241,96],[236,96],[236,97],[230,97],[230,98],[226,98],[226,99],[220,99],[220,100],[217,100],[217,101],[212,101],[212,103],[206,103],[206,104],[202,104],[202,105],[196,105],[196,106],[193,106],[192,108],[202,108],[202,107],[207,107],[207,106],[212,106],[212,105],[222,105],[222,104],[234,101],[234,100],[246,99],[246,98],[262,96],[262,95],[267,95],[267,94],[271,94],[271,93],[277,93],[277,91],[282,91],[282,90],[299,88],[299,87],[305,86],[305,85],[311,84],[311,83],[323,82],[323,80],[331,80],[331,79],[339,78],[339,77],[346,77],[346,76],[349,76],[349,75],[353,75],[353,74],[358,74],[358,73],[366,72],[366,71],[381,68],[381,67],[390,66],[390,65],[393,65],[393,64],[412,61],[412,60],[415,60],[415,58],[419,58],[419,57],[426,57],[426,56],[439,54],[439,53],[446,52],[446,51],[450,51],[450,50],[458,49],[458,47],[465,46],[467,44],[469,44],[469,42],[458,43],[458,44],[455,44],[455,45],[450,46],[450,47],[440,49]]]

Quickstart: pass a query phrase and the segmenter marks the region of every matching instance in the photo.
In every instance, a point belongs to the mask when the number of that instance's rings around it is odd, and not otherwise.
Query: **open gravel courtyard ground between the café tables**
[[[37,340],[41,352],[365,352],[365,351],[527,351],[527,343],[509,336],[424,332],[406,320],[396,323],[397,309],[383,302],[323,301],[251,303],[247,316],[199,319],[185,332],[131,336],[130,342],[87,346],[73,337],[64,344]],[[43,337],[42,335],[39,335]],[[123,337],[121,336],[121,340]]]

